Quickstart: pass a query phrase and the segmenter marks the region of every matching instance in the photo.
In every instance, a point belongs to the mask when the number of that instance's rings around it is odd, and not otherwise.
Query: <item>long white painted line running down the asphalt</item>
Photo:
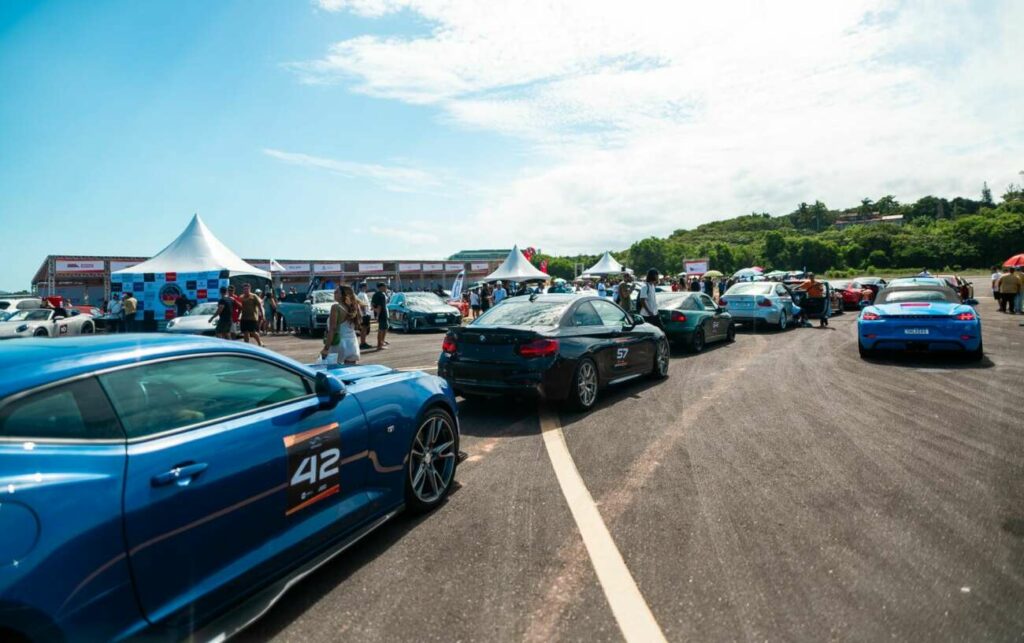
[[[665,641],[662,628],[640,594],[640,588],[601,519],[601,512],[598,511],[594,498],[587,490],[580,470],[572,462],[558,416],[546,408],[541,409],[540,415],[544,445],[548,448],[551,466],[623,637],[631,643]]]

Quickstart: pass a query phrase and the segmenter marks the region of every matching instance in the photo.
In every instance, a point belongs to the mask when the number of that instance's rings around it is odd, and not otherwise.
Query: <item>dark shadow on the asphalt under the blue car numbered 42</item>
[[[421,523],[430,520],[444,510],[451,498],[462,489],[456,480],[449,497],[434,510],[426,514],[402,512],[373,531],[334,560],[313,571],[302,583],[297,584],[281,597],[270,610],[259,620],[232,637],[232,641],[253,643],[276,638],[290,625],[299,620],[317,601],[332,590],[345,583],[365,565],[372,563]]]

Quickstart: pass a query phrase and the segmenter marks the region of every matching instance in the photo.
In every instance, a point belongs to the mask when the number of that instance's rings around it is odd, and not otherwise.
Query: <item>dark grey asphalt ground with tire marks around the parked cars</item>
[[[463,402],[449,501],[240,638],[623,640],[605,592],[626,588],[595,573],[542,437],[552,413],[670,641],[1024,639],[1024,316],[979,294],[981,362],[864,361],[847,312],[676,353],[667,381],[588,414]],[[441,337],[362,361],[433,369]],[[267,343],[311,361],[319,340]]]

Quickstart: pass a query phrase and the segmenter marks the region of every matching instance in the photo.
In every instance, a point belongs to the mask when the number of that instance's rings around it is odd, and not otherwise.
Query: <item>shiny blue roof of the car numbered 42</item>
[[[299,362],[268,350],[196,335],[155,333],[11,339],[0,342],[0,398],[103,369],[210,352],[260,355],[307,371]]]

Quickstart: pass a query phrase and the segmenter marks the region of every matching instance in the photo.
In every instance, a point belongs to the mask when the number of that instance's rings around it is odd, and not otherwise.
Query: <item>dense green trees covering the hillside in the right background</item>
[[[851,224],[841,218],[902,215],[903,224]],[[683,260],[708,257],[712,267],[730,272],[751,265],[769,269],[806,268],[817,272],[987,268],[1024,252],[1024,186],[1011,185],[996,204],[988,186],[980,200],[925,197],[901,204],[892,195],[864,199],[846,210],[830,210],[820,201],[800,204],[788,214],[768,213],[714,221],[692,230],[679,229],[666,239],[651,237],[613,252],[640,271],[682,270]],[[597,256],[552,257],[548,271],[570,278],[573,264],[584,268]]]

